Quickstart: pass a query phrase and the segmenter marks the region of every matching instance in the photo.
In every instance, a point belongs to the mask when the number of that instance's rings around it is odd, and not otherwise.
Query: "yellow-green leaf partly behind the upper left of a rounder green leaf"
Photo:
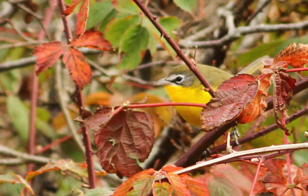
[[[124,32],[139,21],[139,16],[131,15],[110,22],[105,29],[105,38],[111,42],[114,48],[120,46]]]

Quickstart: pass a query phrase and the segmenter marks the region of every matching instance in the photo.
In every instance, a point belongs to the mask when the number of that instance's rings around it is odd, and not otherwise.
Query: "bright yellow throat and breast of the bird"
[[[211,100],[211,95],[204,90],[204,86],[183,87],[164,86],[172,102],[206,104]],[[201,126],[200,112],[202,107],[175,106],[176,111],[188,123],[195,127]]]

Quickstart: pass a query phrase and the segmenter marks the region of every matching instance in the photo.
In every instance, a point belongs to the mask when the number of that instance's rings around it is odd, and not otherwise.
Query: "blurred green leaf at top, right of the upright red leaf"
[[[90,29],[99,24],[99,22],[102,22],[112,10],[113,6],[110,0],[91,4],[86,29]]]

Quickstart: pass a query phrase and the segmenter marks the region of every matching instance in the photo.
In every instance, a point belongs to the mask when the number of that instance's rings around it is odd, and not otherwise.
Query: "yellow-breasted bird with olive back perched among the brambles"
[[[241,73],[257,75],[263,64],[262,59],[269,58],[264,56],[253,61],[249,66],[245,67]],[[217,89],[222,82],[232,78],[234,75],[221,70],[214,66],[196,64],[197,69],[203,77],[209,82],[214,90]],[[185,103],[208,103],[212,96],[205,90],[199,79],[189,70],[185,64],[172,67],[167,77],[162,78],[154,83],[155,86],[164,86],[169,98],[172,102]],[[189,124],[194,127],[201,128],[200,112],[202,107],[197,106],[174,106],[177,113]]]

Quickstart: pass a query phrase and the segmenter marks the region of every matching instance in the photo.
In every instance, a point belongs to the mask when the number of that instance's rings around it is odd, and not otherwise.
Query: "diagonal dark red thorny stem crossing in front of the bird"
[[[189,69],[196,75],[196,77],[200,80],[201,84],[208,88],[209,94],[212,97],[214,96],[214,90],[209,82],[202,76],[200,71],[197,69],[197,66],[193,64],[193,62],[183,53],[180,47],[174,42],[174,40],[167,34],[164,28],[159,24],[157,18],[152,15],[152,13],[139,1],[133,0],[136,5],[140,8],[140,10],[148,17],[148,19],[152,22],[152,24],[156,27],[156,29],[160,32],[161,36],[166,39],[166,41],[170,44],[176,54],[184,61],[184,63],[189,67]]]

